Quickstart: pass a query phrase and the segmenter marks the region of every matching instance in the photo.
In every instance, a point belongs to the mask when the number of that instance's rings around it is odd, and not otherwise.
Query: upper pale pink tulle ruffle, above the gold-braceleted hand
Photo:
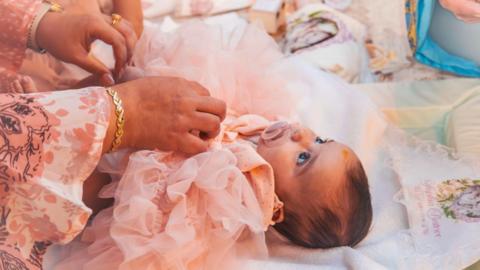
[[[230,34],[221,27],[186,23],[174,33],[146,29],[134,57],[146,76],[177,76],[196,81],[238,115],[275,120],[294,113],[285,73],[276,72],[283,55],[275,41],[252,25]]]

